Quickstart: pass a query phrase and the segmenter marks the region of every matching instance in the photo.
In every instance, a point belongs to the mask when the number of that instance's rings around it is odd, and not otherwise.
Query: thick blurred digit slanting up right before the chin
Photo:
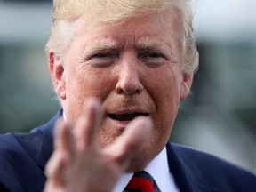
[[[107,148],[106,153],[111,154],[120,165],[127,164],[129,159],[149,139],[153,123],[151,118],[137,117],[129,124],[123,135],[112,146]]]

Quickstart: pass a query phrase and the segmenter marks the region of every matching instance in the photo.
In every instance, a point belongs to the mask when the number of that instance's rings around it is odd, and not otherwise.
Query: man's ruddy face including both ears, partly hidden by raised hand
[[[49,53],[52,82],[68,121],[76,124],[83,116],[88,98],[102,102],[101,147],[120,137],[134,116],[152,118],[150,140],[134,151],[131,172],[164,148],[192,84],[193,74],[182,71],[177,13],[169,7],[116,26],[80,18],[65,56]]]

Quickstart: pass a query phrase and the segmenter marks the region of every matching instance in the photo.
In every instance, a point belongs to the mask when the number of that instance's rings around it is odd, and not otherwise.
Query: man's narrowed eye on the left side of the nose
[[[108,67],[116,60],[116,56],[111,53],[100,52],[92,54],[89,58],[89,63],[94,67],[104,68]]]

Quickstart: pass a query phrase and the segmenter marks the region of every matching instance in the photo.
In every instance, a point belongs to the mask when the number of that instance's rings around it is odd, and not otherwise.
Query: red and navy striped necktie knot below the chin
[[[154,179],[148,172],[135,172],[124,191],[154,192]]]

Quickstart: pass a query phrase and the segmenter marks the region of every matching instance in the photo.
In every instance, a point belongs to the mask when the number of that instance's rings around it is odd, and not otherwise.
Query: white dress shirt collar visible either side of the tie
[[[164,148],[155,159],[153,159],[150,164],[144,169],[148,172],[156,181],[157,188],[155,191],[172,191],[179,192],[179,189],[175,185],[172,173],[169,171],[169,165],[167,160],[167,151]],[[113,192],[122,192],[124,188],[128,185],[129,181],[132,179],[133,172],[124,173],[121,178],[116,183]]]

